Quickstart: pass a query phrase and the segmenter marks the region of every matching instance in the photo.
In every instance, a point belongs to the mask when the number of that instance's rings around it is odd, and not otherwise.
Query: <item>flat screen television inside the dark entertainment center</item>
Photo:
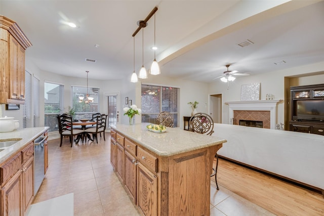
[[[297,119],[324,121],[324,100],[297,101]]]

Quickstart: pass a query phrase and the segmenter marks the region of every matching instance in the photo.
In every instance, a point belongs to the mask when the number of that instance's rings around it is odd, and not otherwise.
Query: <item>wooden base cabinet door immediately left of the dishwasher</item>
[[[22,169],[22,186],[23,186],[23,206],[26,212],[29,204],[34,197],[34,157],[31,157]]]

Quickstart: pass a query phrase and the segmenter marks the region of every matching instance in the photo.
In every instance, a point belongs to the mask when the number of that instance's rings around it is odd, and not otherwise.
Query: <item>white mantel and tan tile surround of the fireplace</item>
[[[239,120],[263,121],[263,128],[275,129],[277,103],[282,100],[233,101],[229,106],[229,119],[232,124]]]

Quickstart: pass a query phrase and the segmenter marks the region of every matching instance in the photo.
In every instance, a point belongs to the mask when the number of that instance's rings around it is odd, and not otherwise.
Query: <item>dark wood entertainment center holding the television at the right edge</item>
[[[290,131],[324,135],[324,84],[291,87]]]

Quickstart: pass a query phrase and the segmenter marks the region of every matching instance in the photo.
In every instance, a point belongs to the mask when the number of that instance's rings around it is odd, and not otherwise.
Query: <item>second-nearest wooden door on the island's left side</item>
[[[136,204],[136,159],[128,151],[125,151],[125,187]]]

